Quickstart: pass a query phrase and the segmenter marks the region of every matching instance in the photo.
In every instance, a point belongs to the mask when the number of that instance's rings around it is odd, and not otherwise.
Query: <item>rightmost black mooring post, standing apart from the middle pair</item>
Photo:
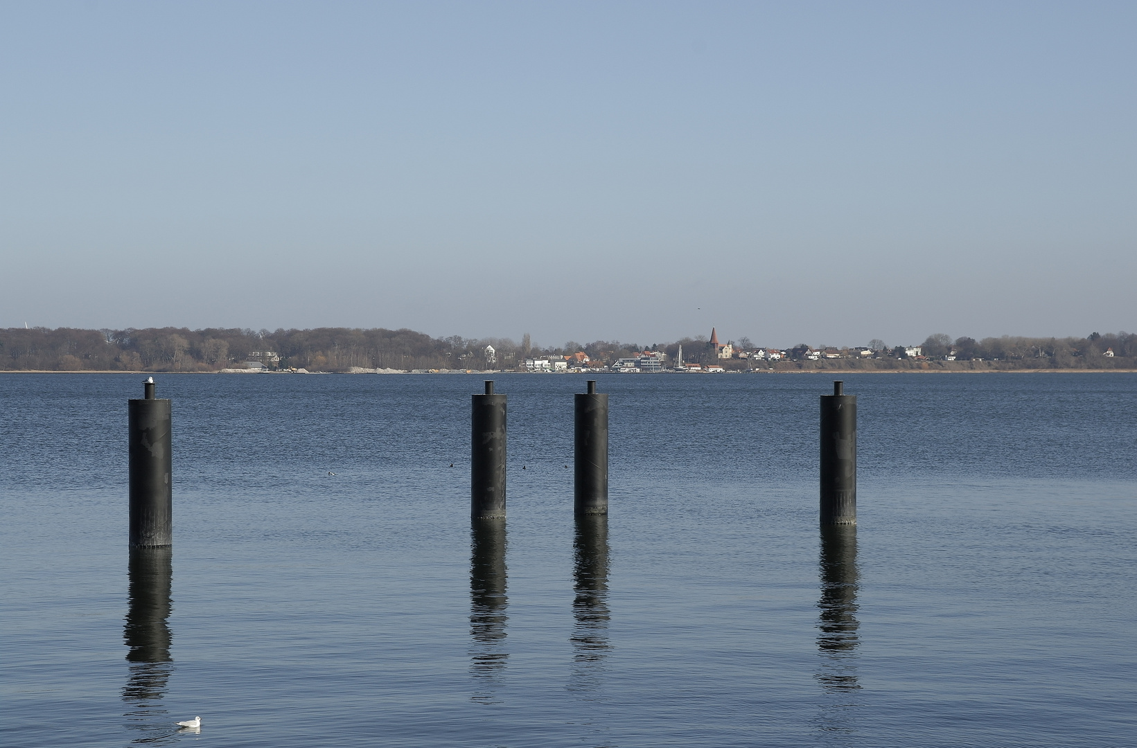
[[[821,396],[821,524],[856,524],[856,396]]]

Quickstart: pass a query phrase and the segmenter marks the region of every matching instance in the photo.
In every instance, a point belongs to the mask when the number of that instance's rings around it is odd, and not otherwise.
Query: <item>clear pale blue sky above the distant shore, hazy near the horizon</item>
[[[1134,331],[1134,39],[1132,2],[7,2],[0,327]]]

